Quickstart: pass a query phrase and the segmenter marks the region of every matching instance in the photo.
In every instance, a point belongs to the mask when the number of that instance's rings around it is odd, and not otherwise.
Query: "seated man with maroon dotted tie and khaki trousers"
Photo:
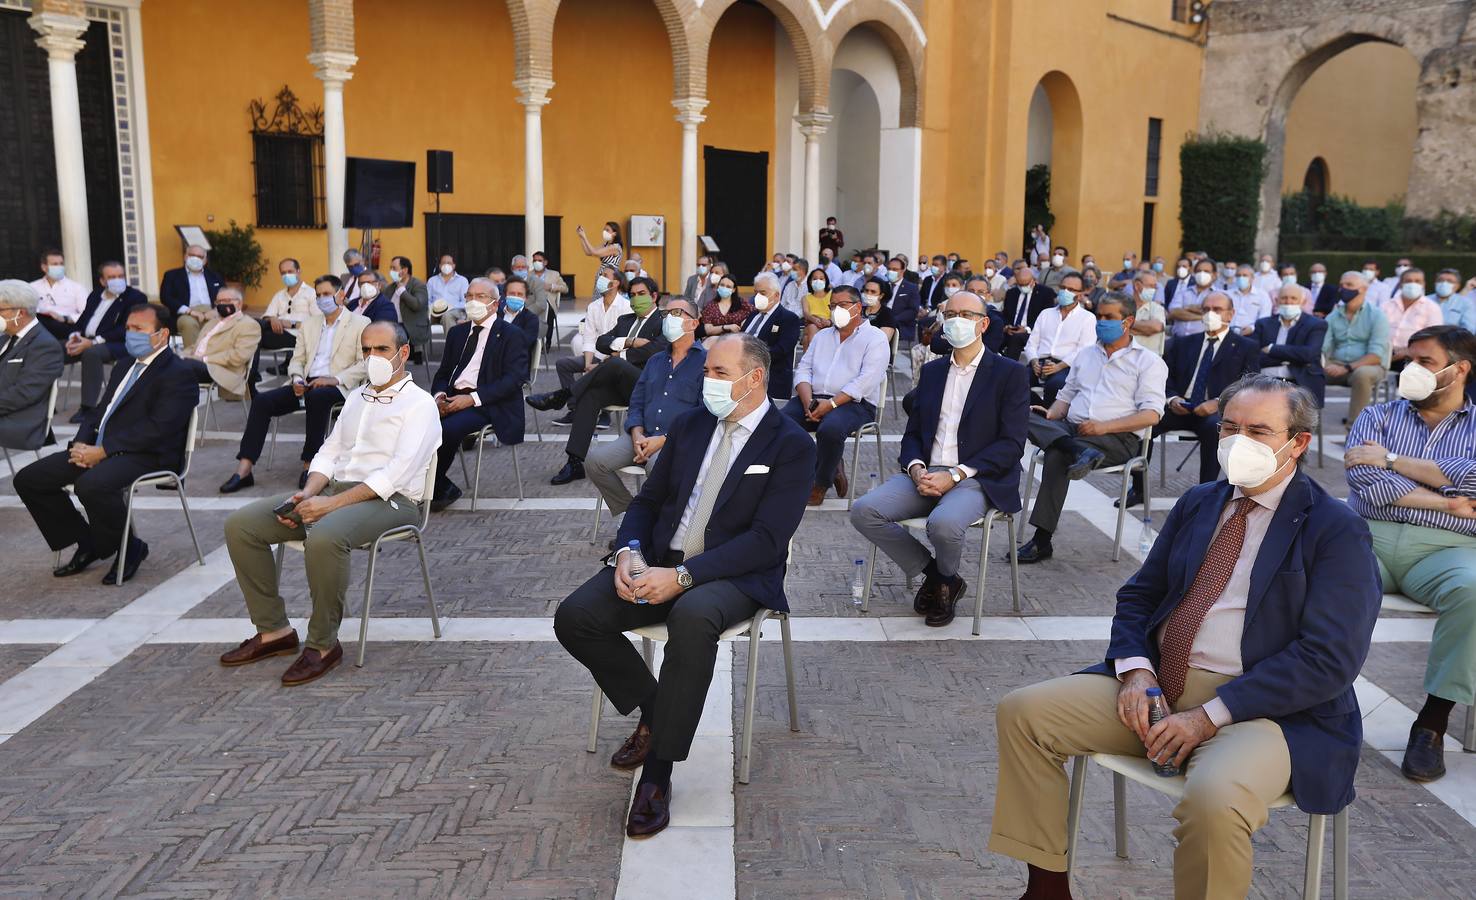
[[[1353,679],[1380,600],[1368,530],[1297,468],[1317,428],[1306,391],[1250,375],[1221,409],[1228,482],[1173,505],[1117,592],[1106,660],[999,701],[989,848],[1027,863],[1032,900],[1072,896],[1067,757],[1145,755],[1187,772],[1176,897],[1246,897],[1250,835],[1287,789],[1309,813],[1353,798]],[[1151,688],[1173,710],[1153,726]]]

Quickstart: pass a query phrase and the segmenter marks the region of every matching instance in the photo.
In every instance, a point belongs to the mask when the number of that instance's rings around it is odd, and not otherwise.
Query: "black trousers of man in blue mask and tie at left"
[[[154,456],[120,453],[84,469],[74,466],[65,451],[52,453],[15,474],[15,493],[53,550],[81,544],[102,556],[112,556],[123,540],[127,513],[124,490],[139,475],[162,468]],[[87,518],[77,512],[72,499],[62,490],[68,484],[77,491]]]

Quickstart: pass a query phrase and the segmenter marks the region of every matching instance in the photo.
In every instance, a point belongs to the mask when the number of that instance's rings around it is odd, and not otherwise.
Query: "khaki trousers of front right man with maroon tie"
[[[1181,710],[1215,696],[1230,679],[1191,668]],[[996,713],[999,785],[989,848],[1052,872],[1066,870],[1066,760],[1092,752],[1145,754],[1117,720],[1116,679],[1075,674],[1013,690]],[[1188,760],[1173,809],[1173,896],[1243,900],[1250,891],[1250,835],[1287,791],[1292,758],[1268,719],[1225,726]]]

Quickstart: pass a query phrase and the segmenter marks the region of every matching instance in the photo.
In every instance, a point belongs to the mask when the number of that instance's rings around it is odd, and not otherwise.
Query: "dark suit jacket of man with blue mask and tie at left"
[[[133,357],[124,357],[112,367],[102,401],[87,410],[77,428],[74,443],[93,444],[114,394],[128,378]],[[165,347],[154,357],[133,388],[118,401],[108,419],[102,449],[108,456],[128,453],[155,460],[155,468],[180,471],[184,463],[184,438],[189,437],[189,415],[199,403],[199,382],[195,370]]]

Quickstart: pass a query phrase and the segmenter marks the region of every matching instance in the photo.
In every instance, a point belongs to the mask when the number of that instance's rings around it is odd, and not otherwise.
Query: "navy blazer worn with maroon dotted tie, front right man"
[[[1128,657],[1159,665],[1154,634],[1194,581],[1231,494],[1230,482],[1213,481],[1173,505],[1142,568],[1117,592],[1106,661],[1086,671],[1114,674],[1113,660]],[[1302,811],[1333,814],[1353,800],[1364,736],[1353,679],[1382,598],[1367,522],[1297,471],[1250,572],[1244,674],[1216,693],[1235,721],[1281,726]]]

